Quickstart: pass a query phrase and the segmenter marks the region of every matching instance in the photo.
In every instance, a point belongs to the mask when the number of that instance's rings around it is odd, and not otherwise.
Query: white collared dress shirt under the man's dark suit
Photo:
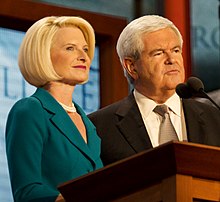
[[[137,90],[134,90],[134,97],[137,102],[138,108],[141,112],[141,116],[143,118],[145,127],[149,134],[151,143],[153,147],[159,145],[159,128],[160,122],[162,120],[161,116],[153,111],[153,109],[158,105],[153,100],[145,97]],[[182,102],[179,96],[175,93],[172,97],[170,97],[165,103],[170,111],[170,119],[176,130],[178,138],[180,141],[186,141],[186,125],[185,118],[183,113]]]

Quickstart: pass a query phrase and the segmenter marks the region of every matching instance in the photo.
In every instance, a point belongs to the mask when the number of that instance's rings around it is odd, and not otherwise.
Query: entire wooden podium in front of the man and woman
[[[220,201],[220,148],[169,142],[58,189],[67,202]]]

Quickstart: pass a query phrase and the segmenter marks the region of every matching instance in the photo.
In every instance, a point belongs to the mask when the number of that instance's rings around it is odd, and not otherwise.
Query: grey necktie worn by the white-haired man
[[[163,144],[171,140],[178,140],[178,136],[170,120],[168,107],[166,105],[157,105],[153,111],[162,116],[159,131],[159,144]]]

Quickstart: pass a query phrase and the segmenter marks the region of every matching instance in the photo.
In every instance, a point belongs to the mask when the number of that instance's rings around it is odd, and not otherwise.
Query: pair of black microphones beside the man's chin
[[[202,81],[197,77],[190,77],[186,83],[180,83],[176,86],[176,93],[181,98],[191,98],[191,97],[199,97],[199,98],[207,98],[212,102],[219,110],[220,107],[212,100],[211,97],[204,91],[204,85]]]

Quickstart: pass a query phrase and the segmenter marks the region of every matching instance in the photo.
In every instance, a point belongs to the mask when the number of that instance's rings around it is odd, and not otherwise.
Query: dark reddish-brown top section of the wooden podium
[[[106,201],[182,174],[220,181],[220,148],[169,142],[61,184],[66,201]]]

